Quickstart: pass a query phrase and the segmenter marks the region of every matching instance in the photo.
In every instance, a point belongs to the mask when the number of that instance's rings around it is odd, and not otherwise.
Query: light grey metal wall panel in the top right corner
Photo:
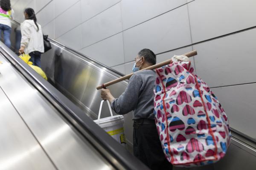
[[[188,7],[193,42],[256,26],[255,0],[195,0]]]

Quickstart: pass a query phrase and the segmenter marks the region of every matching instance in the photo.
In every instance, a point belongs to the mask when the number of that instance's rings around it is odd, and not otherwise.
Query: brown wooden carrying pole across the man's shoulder
[[[190,52],[188,52],[188,53],[186,53],[186,54],[183,54],[183,56],[186,56],[186,57],[193,57],[193,56],[195,56],[195,55],[197,55],[197,51],[196,51],[196,50],[190,51]],[[142,70],[140,70],[140,71],[143,71],[143,70],[154,70],[154,69],[156,69],[156,68],[160,68],[160,67],[163,67],[163,66],[165,66],[165,65],[170,64],[171,61],[172,61],[172,59],[168,59],[168,60],[163,61],[163,62],[160,62],[160,63],[158,63],[158,64],[156,64],[156,65],[151,65],[151,66],[149,66],[149,67],[147,67],[147,68],[144,68],[144,69],[142,69]],[[97,89],[97,90],[100,90],[100,89],[102,89],[102,88],[106,88],[106,87],[108,87],[108,86],[110,86],[110,85],[113,85],[113,84],[116,84],[116,83],[118,83],[118,82],[122,82],[123,80],[129,79],[133,74],[134,74],[134,73],[131,73],[131,74],[128,74],[128,75],[126,75],[126,76],[124,76],[124,77],[120,77],[120,78],[118,78],[118,79],[115,79],[115,80],[112,80],[112,81],[110,81],[110,82],[104,83],[103,85],[99,85],[99,86],[97,86],[96,89]]]

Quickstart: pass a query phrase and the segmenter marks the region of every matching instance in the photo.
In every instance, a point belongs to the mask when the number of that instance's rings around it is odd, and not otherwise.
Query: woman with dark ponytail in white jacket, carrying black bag
[[[29,61],[33,65],[41,67],[41,53],[44,53],[44,38],[40,24],[35,17],[35,11],[32,8],[26,8],[24,11],[25,21],[21,23],[21,42],[20,54],[29,54]]]

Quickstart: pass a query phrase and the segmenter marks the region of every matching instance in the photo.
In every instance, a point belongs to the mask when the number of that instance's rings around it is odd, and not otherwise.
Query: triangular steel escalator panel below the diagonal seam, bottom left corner
[[[0,70],[1,67],[4,67],[3,64],[0,64]],[[1,74],[0,79],[3,79]],[[16,170],[17,167],[21,170],[55,170],[55,166],[2,88],[0,88],[0,150],[1,170]]]

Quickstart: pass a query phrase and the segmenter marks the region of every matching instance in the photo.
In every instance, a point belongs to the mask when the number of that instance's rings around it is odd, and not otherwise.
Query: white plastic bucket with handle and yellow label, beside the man
[[[98,119],[94,120],[94,122],[97,123],[100,127],[102,127],[102,129],[104,129],[110,136],[116,139],[117,142],[126,147],[126,139],[123,127],[124,116],[113,116],[110,103],[107,100],[111,116],[100,119],[103,102],[104,100],[102,100],[102,102],[100,103]]]

